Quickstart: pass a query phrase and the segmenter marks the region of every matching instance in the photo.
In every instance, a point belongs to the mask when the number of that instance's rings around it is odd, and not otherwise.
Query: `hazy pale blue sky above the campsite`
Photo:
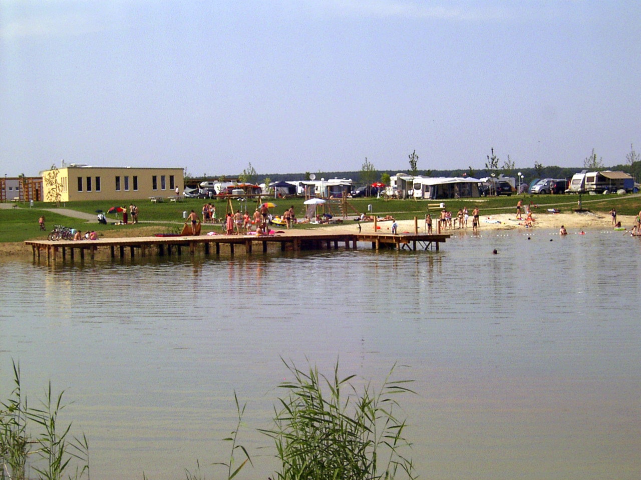
[[[0,174],[626,163],[640,26],[632,0],[2,0]]]

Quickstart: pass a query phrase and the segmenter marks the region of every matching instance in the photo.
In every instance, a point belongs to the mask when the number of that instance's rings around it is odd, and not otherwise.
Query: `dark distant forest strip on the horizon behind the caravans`
[[[457,170],[417,170],[417,175],[423,175],[426,177],[462,177],[463,174],[474,177],[477,179],[483,177],[490,177],[494,174],[498,177],[503,174],[506,177],[517,177],[517,173],[521,172],[523,175],[524,182],[531,182],[534,179],[571,179],[574,173],[581,172],[585,170],[584,167],[560,167],[560,166],[540,166],[538,168],[513,168],[506,170],[503,168],[497,168],[496,170],[487,170],[485,168],[480,168],[475,170],[473,168],[468,169],[457,169]],[[641,179],[641,161],[634,162],[632,164],[619,164],[609,167],[598,168],[597,170],[615,170],[629,173],[632,177],[637,180]],[[309,178],[311,173],[316,175],[316,179],[351,179],[354,184],[360,186],[363,184],[362,178],[371,179],[374,178],[374,181],[381,179],[381,175],[387,173],[388,175],[396,175],[399,172],[409,173],[408,170],[374,170],[374,172],[363,172],[362,170],[356,170],[353,172],[299,172],[299,173],[256,173],[251,179],[252,182],[262,183],[265,179],[269,179],[270,182],[279,182],[281,180],[306,180]],[[207,175],[206,179],[226,179],[228,181],[234,181],[238,179],[238,175]],[[185,180],[200,180],[205,179],[204,177],[186,177]]]

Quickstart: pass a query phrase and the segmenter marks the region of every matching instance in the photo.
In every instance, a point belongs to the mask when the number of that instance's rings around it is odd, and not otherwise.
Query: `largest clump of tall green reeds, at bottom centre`
[[[279,398],[274,428],[262,430],[276,444],[279,480],[415,478],[412,460],[404,456],[411,447],[406,424],[393,412],[399,408],[394,396],[412,390],[406,387],[410,380],[391,380],[396,365],[380,390],[367,383],[359,393],[351,383],[354,375],[340,380],[338,362],[331,378],[311,365],[304,372],[283,363],[294,381],[279,385],[288,396]]]

